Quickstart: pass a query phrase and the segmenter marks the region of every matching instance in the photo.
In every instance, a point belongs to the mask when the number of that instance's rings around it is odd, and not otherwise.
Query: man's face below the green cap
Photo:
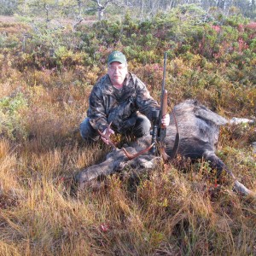
[[[122,85],[128,73],[127,65],[113,61],[108,65],[108,75],[113,85]]]

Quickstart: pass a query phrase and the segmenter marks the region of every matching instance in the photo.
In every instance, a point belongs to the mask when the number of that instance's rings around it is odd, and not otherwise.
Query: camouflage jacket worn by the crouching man
[[[121,90],[116,89],[108,74],[102,77],[90,93],[90,106],[87,117],[90,125],[96,130],[104,131],[112,122],[114,131],[125,131],[135,125],[137,111],[151,120],[151,112],[159,105],[136,75],[128,73]]]

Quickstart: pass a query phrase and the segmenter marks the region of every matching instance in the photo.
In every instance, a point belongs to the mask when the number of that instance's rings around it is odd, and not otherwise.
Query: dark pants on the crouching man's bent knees
[[[151,124],[148,118],[145,115],[139,114],[136,117],[135,125],[128,127],[122,134],[133,134],[135,137],[143,137],[144,135],[148,135],[150,127]],[[85,118],[81,123],[80,134],[84,140],[89,142],[97,141],[100,138],[98,132],[90,125],[89,118]]]

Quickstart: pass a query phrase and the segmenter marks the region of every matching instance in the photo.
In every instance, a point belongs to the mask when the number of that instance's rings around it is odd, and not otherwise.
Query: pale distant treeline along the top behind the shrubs
[[[141,20],[178,5],[195,3],[206,11],[212,9],[224,15],[241,14],[255,19],[255,0],[0,0],[0,15],[81,18],[97,15],[99,20],[125,15],[128,11]]]

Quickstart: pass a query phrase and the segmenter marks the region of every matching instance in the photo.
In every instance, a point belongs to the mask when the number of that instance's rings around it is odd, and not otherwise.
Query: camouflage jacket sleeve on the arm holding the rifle
[[[135,78],[135,85],[137,90],[137,107],[141,113],[145,114],[152,121],[152,110],[160,109],[160,105],[150,96],[146,85],[137,77]]]

